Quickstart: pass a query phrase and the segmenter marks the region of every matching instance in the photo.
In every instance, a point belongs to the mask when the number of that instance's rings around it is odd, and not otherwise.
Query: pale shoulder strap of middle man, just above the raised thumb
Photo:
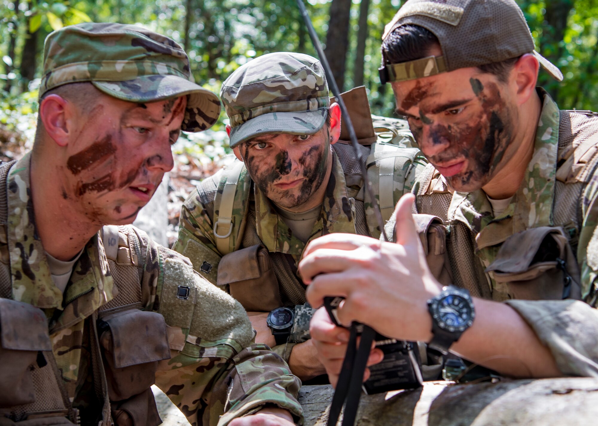
[[[416,158],[421,152],[417,148],[404,148],[387,143],[374,143],[366,160],[368,178],[377,196],[382,218],[388,221],[395,211],[399,198],[411,190],[416,177]],[[367,192],[364,194],[366,209],[365,219],[374,238],[380,237],[380,230],[373,201]],[[370,204],[370,208],[368,208]]]

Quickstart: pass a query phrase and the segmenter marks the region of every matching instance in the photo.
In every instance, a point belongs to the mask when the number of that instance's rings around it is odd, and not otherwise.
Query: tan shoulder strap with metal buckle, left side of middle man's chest
[[[245,229],[251,187],[251,179],[242,161],[234,162],[225,175],[226,178],[218,184],[213,212],[216,248],[223,256],[240,246],[242,239],[239,236]]]

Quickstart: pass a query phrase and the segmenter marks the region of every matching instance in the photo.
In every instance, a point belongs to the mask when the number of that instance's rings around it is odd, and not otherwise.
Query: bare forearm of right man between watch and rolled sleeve
[[[514,377],[558,377],[551,351],[509,305],[475,298],[475,320],[451,347],[471,362]]]

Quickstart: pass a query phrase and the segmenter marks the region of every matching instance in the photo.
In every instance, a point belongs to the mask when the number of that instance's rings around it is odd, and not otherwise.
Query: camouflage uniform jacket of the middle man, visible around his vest
[[[361,149],[362,158],[365,159],[370,149],[364,146]],[[313,227],[312,236],[308,242],[333,232],[368,236],[371,234],[365,220],[365,211],[368,208],[371,209],[371,206],[367,200],[364,202],[362,196],[361,169],[359,163],[355,160],[352,147],[344,143],[336,143],[332,145],[332,157],[332,174],[322,203],[322,213]],[[414,173],[410,174],[413,179],[416,173],[425,166],[423,157],[418,157],[417,161],[419,163],[414,165]],[[402,172],[404,173],[404,171]],[[249,200],[247,224],[240,248],[258,243],[266,246],[273,261],[274,273],[279,282],[283,305],[293,307],[294,305],[304,304],[306,302],[306,286],[297,275],[297,264],[301,260],[307,243],[301,242],[292,235],[291,230],[277,214],[270,200],[263,195],[257,186],[252,184],[248,174],[242,174],[242,178],[243,176],[246,184],[251,184],[252,189],[250,190],[251,199]],[[396,203],[404,192],[411,190],[413,181],[403,182],[402,175],[399,177],[399,173],[395,174],[394,180],[395,186],[402,187],[404,185],[402,190],[393,193],[394,202]],[[397,180],[400,181],[398,184],[396,183]],[[216,248],[213,234],[213,217],[210,217],[208,213],[208,205],[213,206],[215,192],[216,187],[214,187],[213,192],[208,193],[207,199],[202,199],[198,190],[195,190],[185,200],[179,220],[179,239],[173,246],[173,249],[190,258],[194,268],[214,284],[216,284],[217,266],[221,254]],[[236,215],[234,219],[239,223],[242,220],[242,212],[237,211],[233,214]],[[202,246],[202,249],[198,250],[197,245]],[[201,271],[200,268],[203,261],[206,260],[206,256],[209,257],[210,254],[212,255],[210,263],[214,267],[209,273],[206,273]],[[288,359],[291,346],[292,344],[289,343],[273,349],[282,354],[285,359]]]

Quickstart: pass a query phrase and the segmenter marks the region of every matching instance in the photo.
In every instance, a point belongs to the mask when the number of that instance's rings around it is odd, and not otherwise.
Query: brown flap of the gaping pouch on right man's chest
[[[518,274],[530,269],[532,264],[540,264],[536,254],[541,250],[546,237],[551,237],[559,249],[559,257],[565,254],[567,238],[560,227],[541,226],[518,232],[508,237],[496,254],[496,259],[486,272],[499,271],[502,273]],[[549,263],[556,259],[544,259],[542,263]]]

